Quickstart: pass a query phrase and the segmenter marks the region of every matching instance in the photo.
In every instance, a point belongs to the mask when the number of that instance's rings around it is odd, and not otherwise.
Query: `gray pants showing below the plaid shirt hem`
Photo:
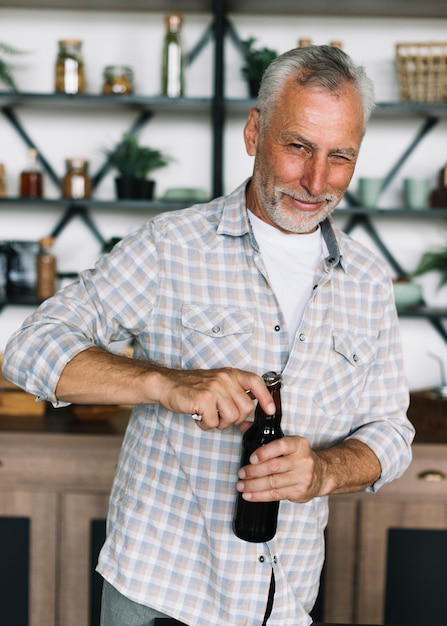
[[[169,615],[129,600],[104,580],[101,626],[154,626],[157,617]]]

